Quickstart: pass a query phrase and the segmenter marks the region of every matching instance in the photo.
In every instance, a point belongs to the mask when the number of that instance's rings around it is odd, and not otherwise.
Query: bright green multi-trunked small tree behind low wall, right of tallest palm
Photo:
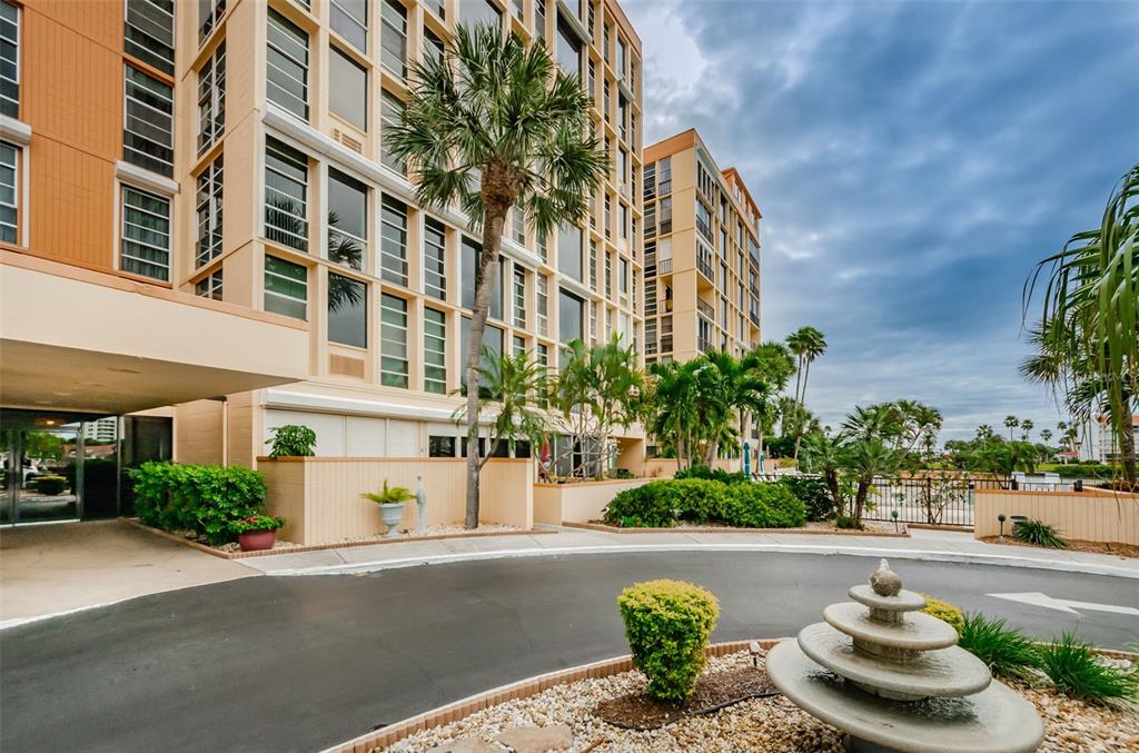
[[[570,436],[563,457],[580,453],[571,476],[600,476],[617,426],[629,427],[640,418],[645,383],[637,368],[637,353],[614,334],[605,344],[587,346],[580,339],[563,349],[563,365],[551,391],[554,418]]]

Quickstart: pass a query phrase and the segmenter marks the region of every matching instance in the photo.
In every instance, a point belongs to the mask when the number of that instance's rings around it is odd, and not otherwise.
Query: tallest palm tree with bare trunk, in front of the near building
[[[515,207],[539,236],[584,221],[609,164],[590,103],[544,44],[527,47],[497,24],[459,25],[444,56],[412,66],[402,122],[385,137],[421,206],[457,204],[482,229],[466,353],[468,529],[478,526],[480,349],[502,229]]]

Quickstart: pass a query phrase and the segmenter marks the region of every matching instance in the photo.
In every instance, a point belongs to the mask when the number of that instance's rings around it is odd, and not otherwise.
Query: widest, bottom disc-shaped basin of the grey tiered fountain
[[[795,705],[852,737],[911,753],[1029,753],[1044,739],[1035,707],[993,680],[975,695],[888,701],[811,661],[794,640],[768,653],[768,674]]]

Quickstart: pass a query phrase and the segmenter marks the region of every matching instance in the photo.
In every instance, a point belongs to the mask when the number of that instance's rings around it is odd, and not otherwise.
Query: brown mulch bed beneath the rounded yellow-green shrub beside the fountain
[[[645,694],[603,701],[593,713],[606,722],[622,729],[639,731],[659,729],[683,718],[711,714],[727,706],[747,701],[779,695],[762,669],[744,669],[718,674],[703,674],[696,680],[693,694],[682,703],[663,703]]]

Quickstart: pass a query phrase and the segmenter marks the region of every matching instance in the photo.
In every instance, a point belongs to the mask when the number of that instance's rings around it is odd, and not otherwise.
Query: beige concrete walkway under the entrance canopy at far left
[[[257,574],[118,521],[5,529],[0,532],[0,629]]]

